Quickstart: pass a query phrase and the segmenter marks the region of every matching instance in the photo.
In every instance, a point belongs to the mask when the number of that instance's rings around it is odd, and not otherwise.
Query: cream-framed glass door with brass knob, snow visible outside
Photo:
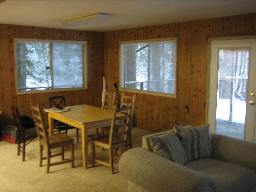
[[[212,40],[211,132],[256,141],[256,39]]]

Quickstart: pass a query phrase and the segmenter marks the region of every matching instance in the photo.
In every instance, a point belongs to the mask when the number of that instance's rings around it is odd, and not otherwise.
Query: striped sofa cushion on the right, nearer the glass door
[[[208,158],[210,156],[209,125],[177,127],[176,129],[188,161]]]

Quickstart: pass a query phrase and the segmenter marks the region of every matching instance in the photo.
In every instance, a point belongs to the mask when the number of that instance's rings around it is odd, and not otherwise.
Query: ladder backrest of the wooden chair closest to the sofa
[[[109,133],[109,144],[112,145],[113,138],[118,136],[127,141],[129,137],[130,121],[131,121],[131,106],[122,108],[121,111],[114,106],[111,128]],[[120,115],[122,114],[122,115]]]

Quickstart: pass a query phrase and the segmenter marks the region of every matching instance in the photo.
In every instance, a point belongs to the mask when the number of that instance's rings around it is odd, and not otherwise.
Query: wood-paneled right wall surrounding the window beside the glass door
[[[160,131],[207,119],[209,38],[256,35],[256,14],[175,23],[104,34],[104,73],[108,88],[119,81],[119,42],[177,37],[177,97],[136,94],[138,127]],[[189,112],[184,108],[188,105]]]

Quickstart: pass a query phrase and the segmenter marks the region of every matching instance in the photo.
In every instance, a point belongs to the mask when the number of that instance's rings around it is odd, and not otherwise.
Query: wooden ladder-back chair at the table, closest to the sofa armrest
[[[95,163],[110,167],[112,174],[114,174],[114,150],[120,146],[125,147],[125,149],[128,147],[127,138],[131,108],[127,107],[123,112],[124,114],[120,116],[120,113],[117,113],[117,106],[115,106],[109,135],[93,138],[91,140],[93,167],[95,166]],[[107,162],[96,158],[96,147],[108,150],[109,159]]]

